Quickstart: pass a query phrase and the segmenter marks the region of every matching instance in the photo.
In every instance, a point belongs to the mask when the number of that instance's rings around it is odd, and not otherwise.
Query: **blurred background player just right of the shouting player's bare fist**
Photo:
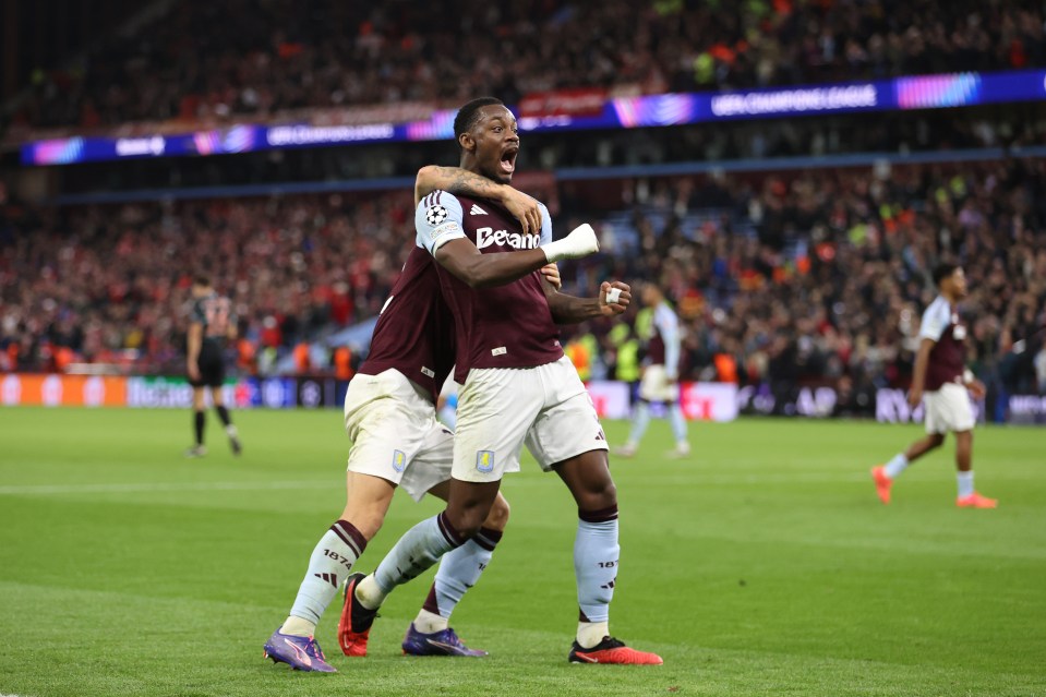
[[[690,444],[686,440],[686,418],[680,406],[680,356],[683,337],[680,319],[654,284],[644,284],[642,303],[646,309],[636,315],[636,332],[647,338],[647,354],[639,381],[639,398],[632,417],[628,442],[616,449],[623,457],[632,457],[650,425],[650,402],[661,402],[669,413],[675,448],[672,457],[686,457]]]

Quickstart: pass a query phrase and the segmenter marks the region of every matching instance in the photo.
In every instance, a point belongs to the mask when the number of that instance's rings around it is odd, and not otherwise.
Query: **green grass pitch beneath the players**
[[[954,507],[952,444],[879,504],[868,468],[916,426],[693,424],[694,456],[615,459],[622,567],[612,629],[660,668],[569,665],[576,513],[528,459],[491,567],[454,626],[488,659],[399,641],[430,577],[398,589],[371,656],[340,671],[262,660],[309,553],[344,504],[336,410],[237,412],[229,454],[185,460],[187,411],[0,410],[0,694],[1046,695],[1046,430],[976,433],[978,489]],[[612,443],[626,424],[608,423]],[[358,565],[440,509],[398,494]]]

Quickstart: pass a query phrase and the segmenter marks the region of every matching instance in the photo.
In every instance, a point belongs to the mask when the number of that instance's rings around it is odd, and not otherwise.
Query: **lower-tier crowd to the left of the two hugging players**
[[[233,303],[241,368],[321,327],[373,316],[412,219],[406,192],[81,208],[9,206],[0,220],[0,366],[71,361],[181,372],[189,291]]]

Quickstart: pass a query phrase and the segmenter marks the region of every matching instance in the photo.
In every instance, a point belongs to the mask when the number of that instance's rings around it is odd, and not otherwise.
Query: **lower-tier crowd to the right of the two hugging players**
[[[1046,392],[1044,185],[1031,159],[644,182],[638,250],[579,278],[589,290],[606,274],[660,284],[687,327],[692,377],[903,387],[930,271],[952,260],[970,279],[971,364]],[[687,216],[702,206],[722,215]],[[596,363],[613,365],[620,337],[599,338]]]

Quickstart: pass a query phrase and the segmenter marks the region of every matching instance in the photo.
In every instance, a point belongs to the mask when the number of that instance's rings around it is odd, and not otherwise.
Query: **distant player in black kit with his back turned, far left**
[[[211,279],[200,276],[192,286],[192,310],[189,321],[188,356],[185,371],[189,374],[189,384],[192,385],[193,405],[193,435],[195,442],[185,450],[187,457],[203,457],[207,448],[203,444],[204,424],[206,423],[206,394],[211,389],[211,401],[229,436],[229,445],[233,455],[239,455],[243,447],[229,410],[225,406],[221,385],[225,382],[225,348],[226,341],[236,336],[236,316],[232,313],[232,302],[219,296],[211,286]]]

